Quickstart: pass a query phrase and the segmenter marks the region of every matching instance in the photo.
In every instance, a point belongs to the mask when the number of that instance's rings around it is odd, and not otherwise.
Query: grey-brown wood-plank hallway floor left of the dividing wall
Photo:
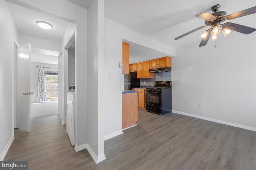
[[[14,129],[14,141],[4,160],[28,160],[29,170],[79,169],[81,164],[95,165],[86,149],[76,152],[71,146],[58,115],[31,119],[30,133]]]

